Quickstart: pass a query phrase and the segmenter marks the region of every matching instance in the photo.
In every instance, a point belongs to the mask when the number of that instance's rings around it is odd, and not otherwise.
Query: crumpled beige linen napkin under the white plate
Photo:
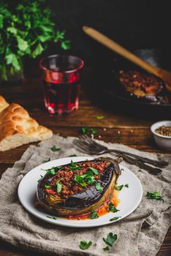
[[[143,197],[140,206],[121,221],[102,227],[70,228],[60,227],[44,222],[32,216],[21,206],[18,200],[18,184],[23,176],[33,167],[42,164],[49,157],[58,159],[71,154],[86,156],[72,145],[73,138],[61,138],[54,135],[51,140],[30,146],[23,157],[12,168],[8,168],[0,181],[0,238],[4,241],[53,255],[115,255],[115,256],[153,256],[159,251],[170,226],[170,180],[171,155],[150,154],[137,151],[121,144],[104,143],[104,146],[118,148],[139,154],[151,159],[165,159],[170,162],[161,176],[151,176],[139,167],[122,164],[132,170],[140,178]],[[56,145],[60,151],[50,148]],[[113,157],[113,154],[106,154]],[[159,191],[164,195],[164,203],[159,200],[148,200],[147,191]],[[102,238],[113,232],[118,240],[109,252]],[[78,244],[81,240],[92,241],[89,249],[82,251]]]

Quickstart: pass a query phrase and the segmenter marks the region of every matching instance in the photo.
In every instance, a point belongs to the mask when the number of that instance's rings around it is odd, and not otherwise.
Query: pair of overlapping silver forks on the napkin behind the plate
[[[140,157],[136,154],[132,154],[126,151],[107,148],[99,143],[96,143],[96,141],[91,140],[91,138],[89,138],[87,135],[82,135],[80,138],[73,140],[73,144],[87,154],[116,153],[119,157],[123,157],[126,162],[129,162],[132,165],[137,165],[138,167],[147,170],[148,173],[153,175],[159,175],[162,170],[159,168],[153,168],[149,165],[145,165],[145,163],[154,165],[156,167],[165,167],[168,165],[168,162],[165,161],[156,161],[146,157]]]

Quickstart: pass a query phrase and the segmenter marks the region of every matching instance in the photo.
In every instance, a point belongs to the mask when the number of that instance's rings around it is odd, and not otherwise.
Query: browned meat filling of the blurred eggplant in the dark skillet
[[[164,87],[164,82],[155,75],[137,71],[120,71],[119,81],[126,91],[137,97],[157,96]]]

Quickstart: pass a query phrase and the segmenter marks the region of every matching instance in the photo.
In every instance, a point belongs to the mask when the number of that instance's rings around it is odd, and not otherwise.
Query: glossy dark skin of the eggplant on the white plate
[[[37,186],[37,199],[39,204],[45,208],[46,211],[58,216],[87,214],[88,212],[91,212],[92,206],[94,209],[99,208],[99,206],[101,206],[113,193],[117,178],[121,174],[118,162],[116,162],[115,159],[110,157],[99,157],[93,161],[96,162],[101,160],[106,163],[106,167],[98,179],[98,183],[103,187],[102,192],[99,192],[99,190],[96,189],[95,184],[93,184],[66,200],[52,201],[43,189],[43,184],[47,182],[47,176],[45,175]],[[90,162],[92,162],[92,160]],[[77,162],[77,164],[78,163],[79,162]],[[50,177],[48,177],[48,181],[50,181]]]

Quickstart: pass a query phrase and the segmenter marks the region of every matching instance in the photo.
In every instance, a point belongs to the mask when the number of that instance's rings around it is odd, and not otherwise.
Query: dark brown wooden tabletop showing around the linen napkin
[[[88,82],[86,82],[88,83]],[[80,108],[69,116],[49,115],[42,102],[42,91],[39,79],[26,80],[16,86],[0,85],[0,95],[8,102],[18,102],[23,105],[30,115],[37,119],[39,124],[53,130],[61,136],[78,136],[81,127],[92,127],[98,131],[95,138],[106,142],[123,143],[143,151],[162,152],[155,143],[150,132],[150,126],[159,118],[142,118],[141,116],[128,116],[117,108],[107,110],[104,104],[97,105],[86,90],[86,83],[80,93]],[[96,116],[104,116],[98,120]],[[0,153],[0,174],[20,159],[28,145],[14,150]],[[0,241],[1,256],[41,255],[29,252],[26,249],[16,248]],[[171,229],[164,238],[164,243],[157,256],[171,255]],[[149,255],[150,256],[150,255]]]

